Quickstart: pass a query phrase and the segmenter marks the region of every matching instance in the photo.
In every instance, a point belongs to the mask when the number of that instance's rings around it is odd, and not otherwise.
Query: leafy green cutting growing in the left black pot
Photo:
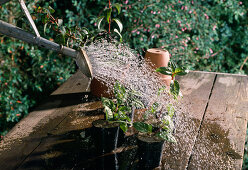
[[[139,100],[139,94],[133,90],[126,89],[119,82],[114,85],[114,100],[102,97],[105,118],[109,123],[118,122],[123,132],[128,130],[132,124],[131,113],[135,108],[144,108]]]

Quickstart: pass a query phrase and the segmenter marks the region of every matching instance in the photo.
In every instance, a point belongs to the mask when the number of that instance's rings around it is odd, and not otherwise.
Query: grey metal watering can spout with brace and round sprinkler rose
[[[10,0],[0,0],[0,5],[6,3]],[[31,27],[33,28],[35,35],[30,34],[19,27],[6,23],[0,20],[0,33],[17,38],[19,40],[25,41],[30,44],[38,45],[39,47],[47,48],[58,53],[62,53],[64,55],[68,55],[76,60],[76,63],[80,69],[87,77],[92,77],[92,66],[90,64],[90,60],[83,48],[80,48],[79,51],[76,51],[72,48],[64,47],[63,45],[59,45],[55,42],[49,41],[45,38],[40,37],[40,34],[36,28],[36,25],[25,5],[24,0],[19,0],[21,8],[25,13]]]

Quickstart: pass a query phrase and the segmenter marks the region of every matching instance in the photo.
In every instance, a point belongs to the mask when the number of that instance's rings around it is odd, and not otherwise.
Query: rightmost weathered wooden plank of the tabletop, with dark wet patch
[[[241,169],[248,77],[218,75],[188,169]]]

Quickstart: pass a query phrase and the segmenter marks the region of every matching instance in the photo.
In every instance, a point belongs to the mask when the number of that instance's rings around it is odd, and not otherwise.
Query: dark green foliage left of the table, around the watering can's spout
[[[48,6],[45,1],[39,1]],[[27,4],[30,12],[37,1]],[[0,18],[30,30],[18,3],[0,9]],[[42,28],[42,25],[40,25]],[[41,32],[42,33],[42,32]],[[52,37],[52,35],[51,35]],[[46,37],[50,39],[49,37]],[[0,35],[0,133],[1,137],[42,98],[75,72],[71,58],[39,49],[17,39]]]

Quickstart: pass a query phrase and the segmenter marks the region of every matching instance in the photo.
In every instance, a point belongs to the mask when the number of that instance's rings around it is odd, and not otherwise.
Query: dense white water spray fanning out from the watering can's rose
[[[171,96],[166,90],[158,100],[158,89],[165,84],[158,74],[146,62],[141,62],[134,51],[125,45],[116,45],[105,40],[86,47],[90,58],[93,75],[113,89],[115,81],[121,82],[126,88],[137,91],[145,105],[151,105],[155,100],[160,107],[171,103]]]

